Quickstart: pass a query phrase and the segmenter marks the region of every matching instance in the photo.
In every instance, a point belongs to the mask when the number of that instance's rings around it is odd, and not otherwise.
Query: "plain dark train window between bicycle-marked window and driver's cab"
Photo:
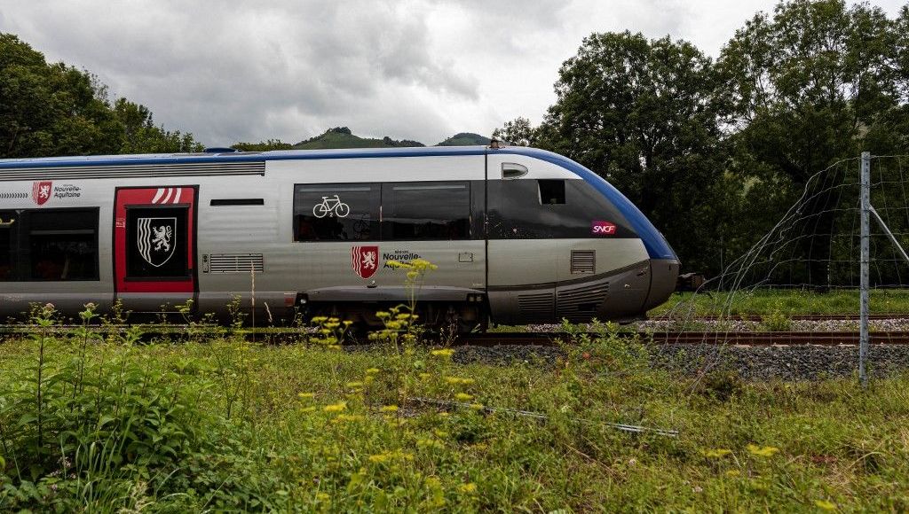
[[[382,191],[382,239],[470,239],[470,183],[386,183]]]

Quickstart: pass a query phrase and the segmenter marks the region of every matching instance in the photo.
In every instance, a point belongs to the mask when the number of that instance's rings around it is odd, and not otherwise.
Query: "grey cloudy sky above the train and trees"
[[[876,0],[895,15],[900,0]],[[96,74],[210,146],[296,143],[338,125],[435,144],[538,123],[593,32],[715,56],[768,0],[10,0],[0,32]]]

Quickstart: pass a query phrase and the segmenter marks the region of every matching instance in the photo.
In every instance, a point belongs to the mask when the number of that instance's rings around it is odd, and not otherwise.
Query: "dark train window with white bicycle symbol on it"
[[[378,184],[297,184],[294,241],[378,241]]]

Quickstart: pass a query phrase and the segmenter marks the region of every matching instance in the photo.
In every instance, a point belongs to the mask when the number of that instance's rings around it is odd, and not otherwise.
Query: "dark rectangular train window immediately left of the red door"
[[[98,280],[98,210],[29,211],[19,228],[31,281]]]

